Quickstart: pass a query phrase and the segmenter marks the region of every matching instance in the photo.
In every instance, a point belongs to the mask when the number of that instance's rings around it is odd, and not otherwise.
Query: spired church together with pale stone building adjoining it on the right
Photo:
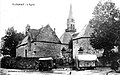
[[[67,19],[67,29],[63,33],[63,35],[60,37],[61,43],[70,44],[72,40],[72,50],[68,48],[68,46],[61,46],[62,50],[65,50],[66,52],[63,53],[66,57],[70,57],[70,53],[72,52],[72,58],[75,57],[75,55],[80,53],[89,53],[89,54],[97,54],[97,52],[92,48],[90,45],[90,35],[93,32],[93,29],[90,27],[90,25],[85,25],[83,30],[81,32],[76,32],[75,28],[75,20],[72,16],[72,5],[70,5],[70,11],[69,16]],[[78,39],[80,37],[84,37],[82,39]],[[98,52],[98,56],[99,56]]]

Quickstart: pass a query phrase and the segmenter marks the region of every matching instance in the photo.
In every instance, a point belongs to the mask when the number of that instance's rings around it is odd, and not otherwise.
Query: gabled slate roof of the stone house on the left
[[[48,42],[56,42],[60,43],[58,36],[56,35],[55,31],[52,30],[50,25],[42,27],[40,29],[30,29],[31,38],[34,41],[48,41]],[[28,36],[26,36],[20,45],[26,44],[28,41]]]

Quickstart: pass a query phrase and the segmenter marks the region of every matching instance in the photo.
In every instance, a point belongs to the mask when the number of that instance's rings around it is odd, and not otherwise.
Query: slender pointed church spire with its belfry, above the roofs
[[[75,29],[75,20],[72,17],[72,5],[70,4],[69,16],[67,19],[67,29],[66,32],[76,32]]]

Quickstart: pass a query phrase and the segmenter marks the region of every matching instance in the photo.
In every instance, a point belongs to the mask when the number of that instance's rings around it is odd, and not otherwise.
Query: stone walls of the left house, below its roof
[[[27,49],[27,45],[17,49],[17,56],[25,57],[25,49],[27,57],[61,57],[61,45],[54,43],[34,42],[31,44],[31,50]]]

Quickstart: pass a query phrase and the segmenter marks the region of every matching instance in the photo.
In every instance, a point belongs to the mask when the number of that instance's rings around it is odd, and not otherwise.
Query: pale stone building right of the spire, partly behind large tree
[[[86,25],[80,33],[73,35],[73,58],[78,54],[95,54],[97,57],[102,56],[103,51],[95,50],[90,45],[90,35],[93,29]]]

